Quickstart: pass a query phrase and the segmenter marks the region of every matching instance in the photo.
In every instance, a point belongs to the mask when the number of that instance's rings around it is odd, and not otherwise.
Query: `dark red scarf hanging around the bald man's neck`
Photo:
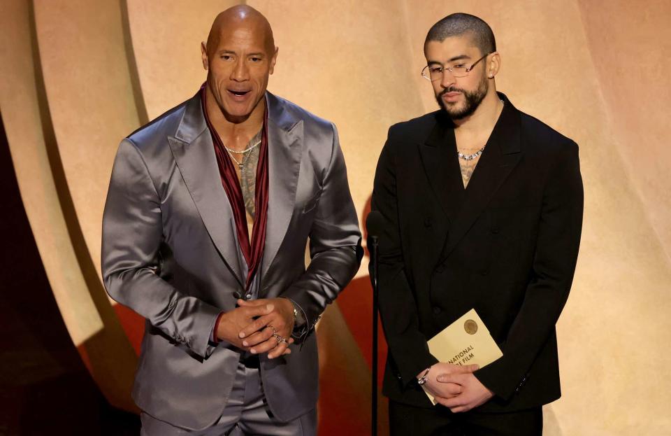
[[[219,138],[219,134],[217,134],[215,128],[212,127],[212,123],[210,123],[205,94],[205,84],[203,84],[201,88],[203,115],[205,115],[205,122],[207,122],[208,129],[210,129],[210,134],[212,135],[212,143],[215,145],[215,155],[217,155],[217,164],[219,165],[219,175],[222,178],[222,185],[224,185],[226,196],[229,197],[229,203],[231,204],[231,209],[233,209],[233,218],[236,220],[238,242],[240,243],[240,249],[243,251],[248,268],[245,290],[249,290],[252,285],[252,279],[254,279],[254,274],[261,264],[264,246],[266,246],[266,222],[268,220],[268,107],[266,106],[264,126],[261,132],[261,149],[259,150],[257,181],[254,188],[254,225],[252,226],[252,244],[250,245],[243,190],[240,188],[240,181],[238,181],[236,168],[233,166],[233,162],[231,162],[231,157],[226,153],[222,139]]]

